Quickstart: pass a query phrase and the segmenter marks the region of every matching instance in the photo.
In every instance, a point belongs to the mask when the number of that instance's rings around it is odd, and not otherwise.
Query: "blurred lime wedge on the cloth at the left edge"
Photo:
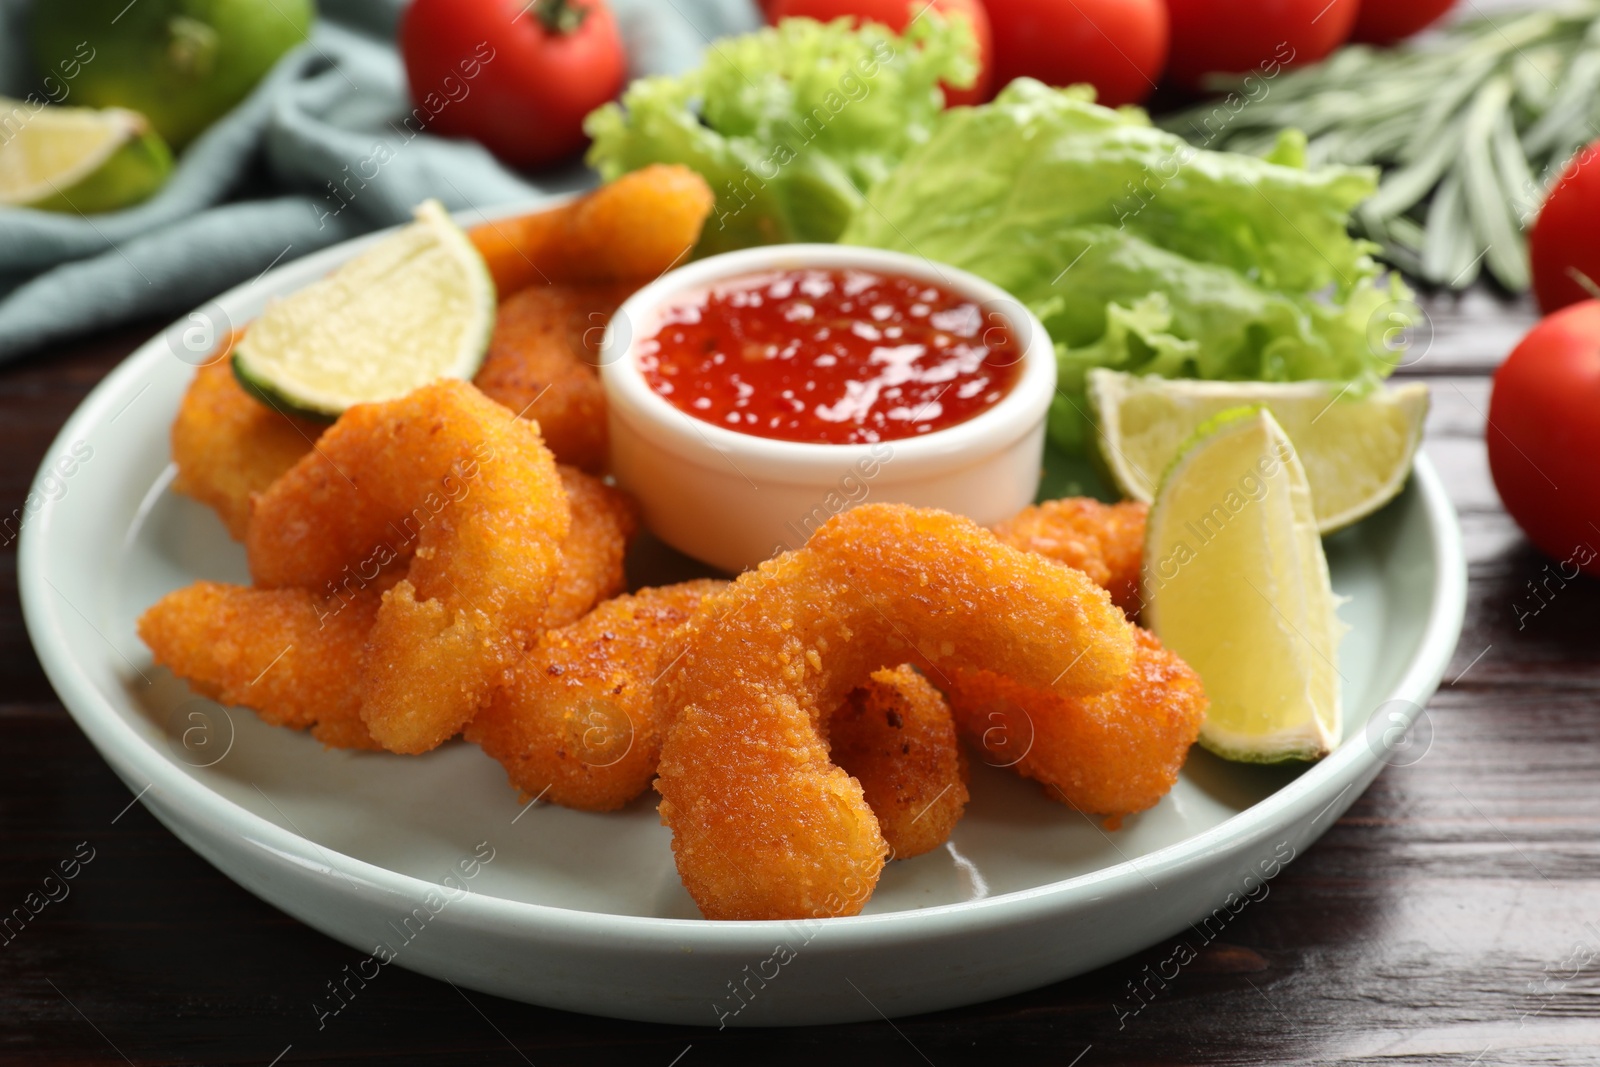
[[[0,96],[0,205],[93,214],[160,189],[173,154],[122,107],[53,107]]]

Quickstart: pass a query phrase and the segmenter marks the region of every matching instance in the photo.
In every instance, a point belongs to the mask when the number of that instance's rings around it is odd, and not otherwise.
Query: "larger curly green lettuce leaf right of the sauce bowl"
[[[952,109],[867,194],[842,240],[950,262],[1011,291],[1056,342],[1051,437],[1082,451],[1088,370],[1370,386],[1418,314],[1349,234],[1370,168],[1206,152],[1029,78]]]

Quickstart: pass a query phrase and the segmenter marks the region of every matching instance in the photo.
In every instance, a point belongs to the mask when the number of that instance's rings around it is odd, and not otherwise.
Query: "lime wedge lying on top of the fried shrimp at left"
[[[314,419],[472,378],[494,330],[494,282],[437,200],[328,277],[267,304],[234,349],[261,400]]]

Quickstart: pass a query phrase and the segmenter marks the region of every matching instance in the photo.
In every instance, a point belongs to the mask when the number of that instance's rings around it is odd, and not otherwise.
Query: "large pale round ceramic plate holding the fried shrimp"
[[[1347,739],[1331,757],[1296,771],[1195,750],[1171,795],[1114,833],[974,761],[949,846],[891,864],[854,918],[701,920],[653,793],[614,814],[523,808],[472,745],[330,752],[197,699],[134,635],[166,590],[246,581],[218,518],[168,488],[192,354],[210,349],[208,323],[248,322],[363,243],[234,290],[101,382],[51,446],[19,560],[34,646],[106,761],[238,885],[363,953],[517,1000],[696,1025],[949,1008],[1190,923],[1192,942],[1216,936],[1386,761],[1410,758],[1402,729],[1438,685],[1466,590],[1456,517],[1422,458],[1394,504],[1328,542],[1334,587],[1352,598]]]

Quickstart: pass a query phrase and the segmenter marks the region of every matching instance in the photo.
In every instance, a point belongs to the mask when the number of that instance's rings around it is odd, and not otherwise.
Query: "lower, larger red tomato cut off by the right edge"
[[[1490,472],[1539,550],[1600,577],[1600,301],[1534,326],[1494,373]],[[1576,568],[1576,569],[1574,569]]]

